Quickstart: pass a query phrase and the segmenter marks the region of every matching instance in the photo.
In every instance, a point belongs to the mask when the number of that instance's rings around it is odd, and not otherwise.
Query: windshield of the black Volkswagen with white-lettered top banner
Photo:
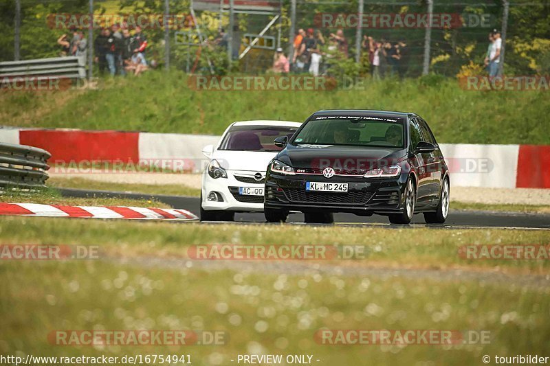
[[[404,141],[401,118],[317,116],[305,124],[292,143],[403,148]]]

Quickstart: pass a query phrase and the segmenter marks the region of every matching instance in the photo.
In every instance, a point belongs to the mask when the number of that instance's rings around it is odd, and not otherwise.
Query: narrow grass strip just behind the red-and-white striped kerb
[[[169,208],[170,205],[156,200],[133,200],[130,198],[87,198],[64,197],[55,188],[38,192],[11,191],[0,194],[0,202],[6,203],[42,203],[45,205],[78,205],[78,206],[134,206]]]

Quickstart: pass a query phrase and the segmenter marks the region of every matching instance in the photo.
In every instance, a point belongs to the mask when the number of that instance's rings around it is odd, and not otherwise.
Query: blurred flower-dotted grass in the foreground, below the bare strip
[[[316,365],[477,365],[483,354],[547,352],[548,290],[403,277],[201,271],[111,262],[0,266],[3,354],[190,354],[231,365],[237,354],[313,354]],[[481,345],[319,345],[333,330],[484,330]],[[54,330],[216,330],[225,345],[56,346]]]

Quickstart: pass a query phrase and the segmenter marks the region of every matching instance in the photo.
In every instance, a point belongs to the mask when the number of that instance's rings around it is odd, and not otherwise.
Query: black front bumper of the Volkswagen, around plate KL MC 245
[[[306,182],[348,183],[348,192],[307,192]],[[361,216],[399,214],[404,207],[406,175],[392,179],[358,176],[267,174],[265,208],[302,212],[350,212]]]

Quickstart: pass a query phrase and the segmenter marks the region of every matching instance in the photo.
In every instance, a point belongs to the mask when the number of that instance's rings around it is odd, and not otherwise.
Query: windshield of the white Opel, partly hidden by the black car
[[[298,127],[283,126],[233,126],[221,141],[219,150],[281,151],[273,140],[280,136],[294,135]]]

